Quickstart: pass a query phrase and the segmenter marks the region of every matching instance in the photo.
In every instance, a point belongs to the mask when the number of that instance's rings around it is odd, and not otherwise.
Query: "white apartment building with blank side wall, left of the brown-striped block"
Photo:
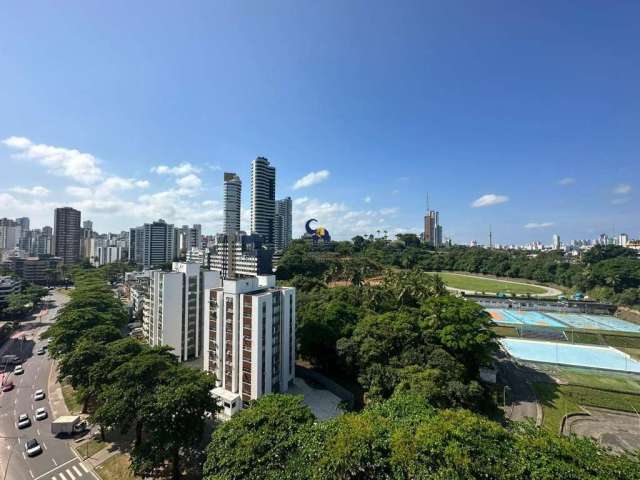
[[[220,274],[195,263],[174,262],[173,271],[150,272],[142,331],[151,346],[169,345],[180,361],[202,348],[204,292],[219,287]]]

